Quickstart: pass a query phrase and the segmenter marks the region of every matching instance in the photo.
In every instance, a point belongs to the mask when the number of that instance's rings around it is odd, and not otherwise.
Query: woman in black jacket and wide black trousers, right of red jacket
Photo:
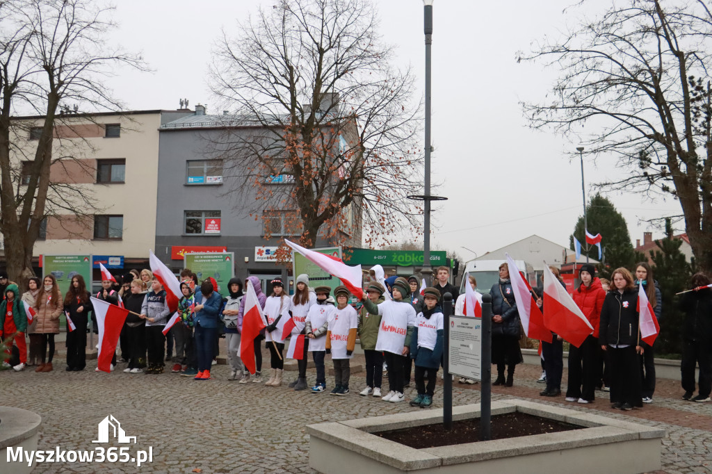
[[[638,327],[638,292],[633,277],[625,268],[613,271],[613,288],[603,301],[599,343],[610,367],[612,408],[632,410],[643,406],[640,366],[637,354],[643,353]]]

